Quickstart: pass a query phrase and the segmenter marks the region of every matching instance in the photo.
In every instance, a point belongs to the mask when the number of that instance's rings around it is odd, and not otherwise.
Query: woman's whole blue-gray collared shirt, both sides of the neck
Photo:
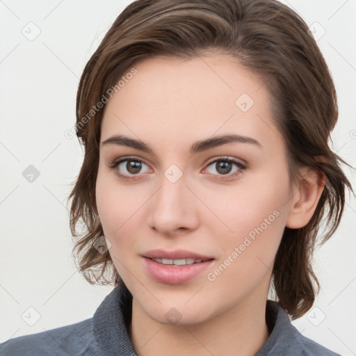
[[[132,296],[126,286],[116,286],[92,318],[72,325],[25,335],[0,344],[1,356],[136,356],[127,325]],[[270,336],[255,356],[341,356],[307,339],[291,324],[277,302],[266,302]]]

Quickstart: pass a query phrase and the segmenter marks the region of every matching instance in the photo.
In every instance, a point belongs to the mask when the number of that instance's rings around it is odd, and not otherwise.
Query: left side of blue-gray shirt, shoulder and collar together
[[[130,296],[121,286],[115,287],[92,318],[0,343],[0,355],[136,355],[125,325],[125,319],[129,318],[131,310]]]

